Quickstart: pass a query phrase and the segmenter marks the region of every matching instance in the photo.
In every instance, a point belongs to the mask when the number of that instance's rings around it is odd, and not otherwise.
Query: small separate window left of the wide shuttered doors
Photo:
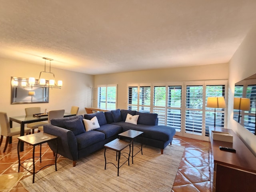
[[[98,86],[98,108],[116,109],[116,85]]]

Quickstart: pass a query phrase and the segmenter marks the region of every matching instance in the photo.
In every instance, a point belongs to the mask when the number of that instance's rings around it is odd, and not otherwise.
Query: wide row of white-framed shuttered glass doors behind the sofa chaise
[[[209,128],[224,127],[225,109],[207,108],[208,97],[224,96],[226,80],[128,85],[128,109],[158,114],[158,125],[176,134],[208,140]],[[248,118],[249,119],[249,118]]]

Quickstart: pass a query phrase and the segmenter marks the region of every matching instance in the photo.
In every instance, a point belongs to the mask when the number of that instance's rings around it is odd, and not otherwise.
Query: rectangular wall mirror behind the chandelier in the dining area
[[[12,77],[11,104],[48,103],[49,88],[28,84],[28,78]]]

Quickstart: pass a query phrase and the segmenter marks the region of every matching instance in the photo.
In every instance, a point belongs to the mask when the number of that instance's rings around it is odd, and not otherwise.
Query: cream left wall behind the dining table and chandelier
[[[0,58],[0,111],[7,112],[8,116],[20,116],[25,115],[26,107],[40,106],[42,112],[45,109],[70,112],[71,106],[79,106],[78,114],[86,113],[84,107],[91,106],[90,87],[94,85],[94,76],[57,68],[52,68],[51,72],[56,80],[63,81],[63,86],[49,89],[49,103],[11,104],[11,77],[38,78],[40,71],[44,71],[44,65]]]

